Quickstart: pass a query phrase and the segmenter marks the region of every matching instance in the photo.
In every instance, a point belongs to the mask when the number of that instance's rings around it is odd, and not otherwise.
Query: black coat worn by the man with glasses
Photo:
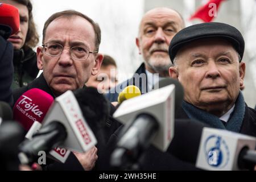
[[[44,92],[47,92],[49,94],[51,94],[51,96],[53,98],[55,98],[52,90],[49,88],[49,86],[47,85],[47,82],[43,76],[43,74],[41,74],[38,78],[36,78],[34,81],[32,81],[30,84],[28,84],[27,86],[24,86],[23,88],[19,88],[14,90],[13,96],[14,96],[14,103],[16,102],[16,100],[18,100],[18,98],[27,90],[32,89],[32,88],[38,88],[41,90],[44,90]],[[110,104],[111,107],[111,113],[113,114],[114,112],[114,108],[113,106]],[[103,167],[105,165],[105,160],[108,156],[105,156],[105,150],[106,150],[106,143],[104,141],[108,141],[110,135],[112,135],[114,133],[115,130],[117,130],[117,128],[120,126],[121,124],[117,121],[115,121],[115,119],[112,118],[112,116],[110,115],[108,121],[106,121],[106,125],[105,127],[102,129],[104,130],[104,134],[102,135],[102,133],[100,133],[100,131],[93,131],[94,134],[96,135],[96,138],[98,140],[98,144],[97,144],[97,148],[98,148],[98,161],[100,164],[96,163],[96,169],[105,169],[106,167]],[[100,137],[98,137],[100,136]],[[102,166],[102,168],[101,168]],[[75,170],[75,171],[81,171],[84,170],[81,166],[81,164],[79,163],[79,160],[77,160],[76,156],[73,155],[73,153],[71,152],[71,155],[69,155],[67,161],[63,164],[63,163],[53,163],[53,164],[49,164],[47,165],[44,169],[49,170],[49,171],[54,171],[54,170]]]

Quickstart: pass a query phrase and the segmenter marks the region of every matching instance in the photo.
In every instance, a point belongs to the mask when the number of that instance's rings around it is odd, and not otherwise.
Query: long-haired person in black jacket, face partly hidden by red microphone
[[[11,88],[16,89],[26,86],[38,75],[36,53],[32,48],[37,46],[39,36],[36,32],[30,0],[0,0],[0,2],[13,5],[19,9],[19,31],[8,39],[14,47],[14,77]]]

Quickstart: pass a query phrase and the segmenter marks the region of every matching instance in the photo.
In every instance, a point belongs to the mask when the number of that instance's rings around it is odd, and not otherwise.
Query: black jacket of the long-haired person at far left
[[[31,48],[14,50],[13,56],[14,77],[13,89],[27,86],[38,76],[38,66],[36,53]]]

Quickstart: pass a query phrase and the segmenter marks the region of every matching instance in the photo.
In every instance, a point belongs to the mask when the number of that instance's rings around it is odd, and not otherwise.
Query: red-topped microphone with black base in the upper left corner
[[[16,7],[0,3],[0,35],[7,39],[19,30],[19,10]]]

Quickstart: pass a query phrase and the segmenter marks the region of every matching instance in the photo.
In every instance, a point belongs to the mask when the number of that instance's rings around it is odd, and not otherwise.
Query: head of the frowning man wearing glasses
[[[36,53],[38,68],[54,96],[82,88],[98,73],[103,59],[97,53],[100,36],[100,27],[76,11],[53,14],[46,21],[43,46]]]

